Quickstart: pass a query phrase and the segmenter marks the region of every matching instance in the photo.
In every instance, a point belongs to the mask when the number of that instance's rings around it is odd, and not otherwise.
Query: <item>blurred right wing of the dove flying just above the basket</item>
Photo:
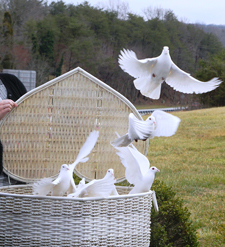
[[[180,118],[161,110],[154,111],[151,116],[154,116],[156,120],[156,129],[152,133],[152,138],[155,136],[172,136],[176,133]]]

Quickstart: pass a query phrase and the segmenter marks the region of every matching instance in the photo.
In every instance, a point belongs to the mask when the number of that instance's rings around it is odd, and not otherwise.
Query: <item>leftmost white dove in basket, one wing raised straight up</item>
[[[43,178],[33,184],[33,194],[46,196],[51,192],[52,196],[63,196],[65,193],[72,193],[76,191],[76,186],[73,180],[73,171],[75,166],[82,162],[88,161],[87,155],[90,154],[94,148],[99,136],[99,131],[94,130],[88,136],[86,142],[81,147],[80,152],[73,164],[63,164],[60,169],[58,177],[52,181],[52,178]]]

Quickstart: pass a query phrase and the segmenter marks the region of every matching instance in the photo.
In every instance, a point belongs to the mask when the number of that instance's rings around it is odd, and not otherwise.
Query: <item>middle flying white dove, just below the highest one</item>
[[[180,119],[161,110],[155,110],[145,121],[129,114],[128,133],[111,142],[114,147],[126,147],[133,140],[146,141],[155,136],[172,136],[176,133]]]

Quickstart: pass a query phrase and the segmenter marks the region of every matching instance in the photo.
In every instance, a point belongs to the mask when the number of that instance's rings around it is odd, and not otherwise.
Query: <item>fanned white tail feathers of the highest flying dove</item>
[[[134,86],[140,90],[141,94],[151,99],[159,99],[161,84],[151,81],[151,77],[140,77],[134,80]]]

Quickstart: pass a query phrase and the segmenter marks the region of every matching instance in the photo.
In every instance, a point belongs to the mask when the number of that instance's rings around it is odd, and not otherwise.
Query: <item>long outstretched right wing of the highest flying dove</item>
[[[182,93],[206,93],[216,89],[221,82],[218,78],[213,78],[207,82],[199,81],[174,63],[172,63],[169,76],[166,78],[168,85]]]

